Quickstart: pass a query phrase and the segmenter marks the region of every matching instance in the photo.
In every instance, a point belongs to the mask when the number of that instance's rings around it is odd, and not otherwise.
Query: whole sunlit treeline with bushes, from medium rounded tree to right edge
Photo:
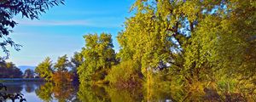
[[[255,1],[137,0],[132,9],[117,37],[119,53],[110,34],[84,36],[73,57],[79,82],[256,93]],[[65,69],[61,62],[57,69]],[[42,75],[54,71],[49,58],[39,66],[47,69]]]

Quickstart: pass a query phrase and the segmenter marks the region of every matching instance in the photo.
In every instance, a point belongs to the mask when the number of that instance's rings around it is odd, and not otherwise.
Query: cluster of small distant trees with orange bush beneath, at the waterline
[[[48,57],[40,63],[35,72],[39,77],[43,77],[46,81],[53,81],[55,84],[66,84],[70,82],[78,82],[76,67],[79,64],[78,53],[74,54],[74,58],[69,61],[67,55],[58,58],[55,64]]]

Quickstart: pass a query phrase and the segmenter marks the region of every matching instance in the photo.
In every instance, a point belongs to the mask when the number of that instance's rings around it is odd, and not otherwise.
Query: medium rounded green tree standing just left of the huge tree
[[[100,81],[116,62],[113,42],[110,34],[88,34],[84,36],[85,47],[82,49],[84,62],[78,68],[79,81]]]

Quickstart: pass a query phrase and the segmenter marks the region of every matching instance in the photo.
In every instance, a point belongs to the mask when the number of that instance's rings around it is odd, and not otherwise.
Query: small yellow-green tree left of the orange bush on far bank
[[[44,59],[43,62],[38,64],[38,66],[35,69],[35,72],[38,73],[39,77],[45,78],[47,81],[51,80],[53,75],[53,69],[52,69],[52,61],[49,57]]]

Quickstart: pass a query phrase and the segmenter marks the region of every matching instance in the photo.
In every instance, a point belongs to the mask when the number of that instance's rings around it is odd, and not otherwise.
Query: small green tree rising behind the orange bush
[[[54,65],[57,71],[67,71],[67,67],[69,66],[70,66],[70,62],[67,59],[67,54],[59,57],[57,62]]]

